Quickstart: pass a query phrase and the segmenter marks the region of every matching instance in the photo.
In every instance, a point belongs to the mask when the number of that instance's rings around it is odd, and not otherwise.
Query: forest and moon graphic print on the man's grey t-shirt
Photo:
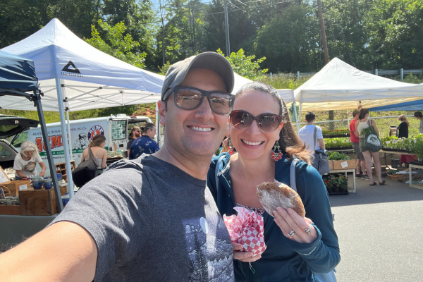
[[[233,247],[219,214],[214,221],[201,217],[184,221],[190,257],[188,281],[233,281]]]

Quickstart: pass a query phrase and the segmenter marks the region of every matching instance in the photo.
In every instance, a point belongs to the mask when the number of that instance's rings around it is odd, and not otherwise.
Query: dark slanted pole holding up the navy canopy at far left
[[[36,90],[34,91],[36,99],[34,100],[35,106],[37,106],[39,126],[41,126],[42,139],[44,140],[44,146],[46,147],[47,161],[50,169],[50,178],[53,181],[54,193],[56,196],[57,207],[59,212],[63,211],[63,202],[61,200],[59,181],[57,180],[56,166],[54,166],[53,154],[51,153],[51,143],[49,142],[49,134],[47,132],[46,120],[42,111],[41,95]]]

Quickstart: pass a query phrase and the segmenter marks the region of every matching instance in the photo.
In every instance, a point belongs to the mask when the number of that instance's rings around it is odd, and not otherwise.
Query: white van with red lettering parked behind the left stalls
[[[78,166],[78,164],[80,164],[82,151],[88,146],[90,140],[92,140],[92,138],[97,134],[101,134],[106,137],[106,145],[104,146],[104,149],[108,151],[121,149],[123,151],[123,155],[125,156],[126,143],[132,137],[130,136],[130,128],[133,128],[133,126],[143,126],[145,123],[151,122],[151,119],[147,116],[126,116],[125,114],[71,121],[71,145],[69,147],[72,148],[72,159],[75,160],[75,165]],[[60,123],[47,123],[47,131],[54,164],[64,162],[65,157]],[[31,128],[19,135],[16,135],[11,140],[11,144],[14,147],[20,147],[20,144],[26,140],[30,140],[37,145],[39,155],[44,161],[44,164],[47,164],[47,155],[45,147],[43,146],[44,142],[42,142],[41,128],[38,126],[37,128]],[[46,172],[46,175],[49,174],[49,172]]]

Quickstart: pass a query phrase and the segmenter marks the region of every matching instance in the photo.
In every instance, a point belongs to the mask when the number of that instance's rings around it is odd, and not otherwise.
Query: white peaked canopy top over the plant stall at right
[[[302,110],[322,111],[384,106],[422,99],[423,85],[399,82],[357,70],[332,59],[295,91]]]

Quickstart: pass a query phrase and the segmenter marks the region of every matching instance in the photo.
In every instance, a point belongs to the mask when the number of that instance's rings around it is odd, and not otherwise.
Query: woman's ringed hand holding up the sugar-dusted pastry
[[[278,207],[274,216],[276,217],[274,221],[281,228],[283,235],[290,240],[298,243],[313,243],[317,239],[317,231],[311,224],[312,220],[303,218],[293,209],[286,210]]]

